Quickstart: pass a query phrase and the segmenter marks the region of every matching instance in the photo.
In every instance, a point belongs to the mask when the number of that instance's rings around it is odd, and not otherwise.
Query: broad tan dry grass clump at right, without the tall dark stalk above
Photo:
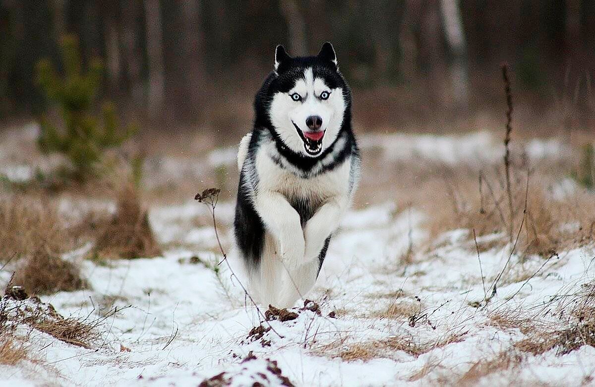
[[[494,247],[501,247],[511,241],[509,231],[519,235],[516,251],[519,254],[538,254],[549,257],[556,251],[590,244],[595,240],[595,209],[590,204],[595,198],[589,192],[577,192],[563,200],[552,198],[546,185],[552,178],[546,174],[531,175],[527,187],[527,175],[516,173],[512,180],[512,211],[509,209],[506,190],[499,181],[501,174],[494,174],[492,179],[484,177],[482,191],[478,189],[477,180],[466,177],[459,184],[456,193],[446,192],[451,196],[450,206],[443,206],[433,213],[427,224],[430,240],[437,238],[447,230],[464,228],[469,230],[468,238],[472,241],[475,230],[478,238],[501,234],[499,238],[487,238],[478,243],[480,252]],[[491,183],[486,183],[491,180]],[[490,188],[487,188],[487,187]],[[525,210],[525,195],[527,208]],[[439,201],[448,200],[446,197]],[[512,218],[511,218],[512,216]],[[578,230],[568,227],[579,223]],[[469,244],[475,249],[474,244]]]

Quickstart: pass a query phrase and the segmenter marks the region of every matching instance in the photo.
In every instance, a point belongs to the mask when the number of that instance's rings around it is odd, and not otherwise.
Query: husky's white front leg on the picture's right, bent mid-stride
[[[342,196],[331,198],[306,223],[303,230],[305,239],[305,261],[318,258],[324,242],[337,229],[347,208],[347,199]]]

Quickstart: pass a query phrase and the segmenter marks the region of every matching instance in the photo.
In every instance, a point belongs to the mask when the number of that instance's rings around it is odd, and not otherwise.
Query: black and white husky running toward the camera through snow
[[[254,108],[237,154],[236,244],[259,302],[292,307],[314,286],[359,180],[351,91],[331,43],[315,57],[277,46]]]

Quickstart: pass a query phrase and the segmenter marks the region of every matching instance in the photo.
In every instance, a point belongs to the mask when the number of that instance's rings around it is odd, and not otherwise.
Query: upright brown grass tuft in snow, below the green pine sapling
[[[140,258],[161,255],[161,249],[149,224],[146,210],[140,206],[133,188],[125,188],[118,197],[117,212],[111,219],[99,221],[95,254],[108,258]]]

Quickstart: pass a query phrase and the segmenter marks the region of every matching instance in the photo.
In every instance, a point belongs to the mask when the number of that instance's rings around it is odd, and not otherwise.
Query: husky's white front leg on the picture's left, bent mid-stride
[[[284,266],[293,270],[303,264],[305,242],[299,214],[285,196],[273,191],[258,192],[256,212],[278,241]]]

